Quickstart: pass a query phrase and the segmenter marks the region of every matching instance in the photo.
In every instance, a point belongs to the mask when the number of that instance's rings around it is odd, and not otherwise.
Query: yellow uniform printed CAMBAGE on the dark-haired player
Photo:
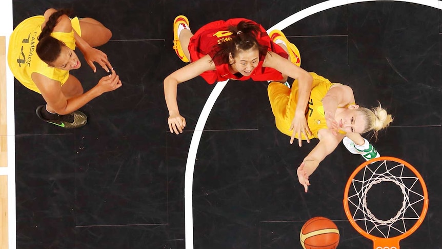
[[[48,64],[38,58],[35,47],[38,44],[38,35],[42,33],[42,24],[45,22],[43,15],[32,16],[17,25],[11,34],[8,48],[8,65],[15,78],[27,88],[41,93],[31,79],[33,72],[43,74],[49,79],[65,84],[69,77],[69,71],[49,67]],[[79,29],[78,18],[71,20]],[[77,31],[77,30],[76,30]],[[64,42],[70,49],[75,49],[74,31],[70,33],[53,32],[51,36]]]

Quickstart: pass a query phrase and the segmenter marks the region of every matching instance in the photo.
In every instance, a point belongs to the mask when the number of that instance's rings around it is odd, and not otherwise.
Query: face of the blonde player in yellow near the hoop
[[[353,105],[354,106],[354,105]],[[366,125],[364,115],[357,111],[358,107],[343,108],[336,113],[335,120],[339,126],[339,130],[346,133],[363,133]]]

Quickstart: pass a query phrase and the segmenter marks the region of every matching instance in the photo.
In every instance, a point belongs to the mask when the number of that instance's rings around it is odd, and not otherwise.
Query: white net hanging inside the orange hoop
[[[407,221],[417,221],[419,219],[420,212],[416,212],[416,209],[419,210],[420,208],[420,210],[422,210],[424,195],[413,190],[413,188],[420,187],[417,191],[422,191],[419,179],[407,166],[388,160],[379,162],[380,164],[378,166],[376,166],[377,164],[367,165],[359,171],[352,180],[347,199],[350,209],[354,209],[354,213],[352,212],[353,220],[356,221],[361,228],[365,229],[369,234],[375,233],[384,238],[390,238],[395,236],[393,234],[406,233],[407,229],[410,229],[411,226],[415,224],[415,222],[412,222],[413,224],[410,226],[410,222]],[[394,164],[394,166],[391,166],[392,164]],[[412,176],[410,176],[410,172]],[[358,176],[363,179],[356,179]],[[373,185],[381,182],[395,183],[399,186],[404,196],[401,208],[394,217],[388,220],[376,218],[367,207],[368,191]],[[355,194],[352,195],[352,193]],[[410,197],[412,201],[410,201]],[[360,224],[363,225],[361,226]]]

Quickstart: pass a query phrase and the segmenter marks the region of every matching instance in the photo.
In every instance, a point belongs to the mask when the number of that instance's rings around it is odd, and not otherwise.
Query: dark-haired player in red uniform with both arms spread
[[[191,63],[164,80],[170,132],[179,134],[186,126],[176,102],[179,83],[198,75],[209,84],[228,79],[286,82],[290,76],[299,82],[297,108],[291,124],[293,135],[311,135],[305,110],[312,76],[299,67],[299,51],[281,31],[273,30],[269,36],[261,25],[234,18],[209,23],[193,34],[183,15],[175,18],[173,29],[176,54],[182,61]],[[299,146],[301,141],[298,140]]]

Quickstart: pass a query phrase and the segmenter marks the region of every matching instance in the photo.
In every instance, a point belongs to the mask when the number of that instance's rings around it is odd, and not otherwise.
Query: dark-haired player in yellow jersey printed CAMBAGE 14
[[[36,110],[40,119],[76,128],[87,122],[86,115],[78,108],[120,87],[121,81],[107,55],[94,48],[107,43],[111,31],[92,18],[71,19],[68,14],[68,10],[48,9],[44,15],[29,17],[18,24],[10,37],[8,64],[20,83],[45,99],[46,106],[38,106]],[[110,74],[87,92],[69,73],[81,66],[74,51],[76,47],[94,72],[96,62]]]

